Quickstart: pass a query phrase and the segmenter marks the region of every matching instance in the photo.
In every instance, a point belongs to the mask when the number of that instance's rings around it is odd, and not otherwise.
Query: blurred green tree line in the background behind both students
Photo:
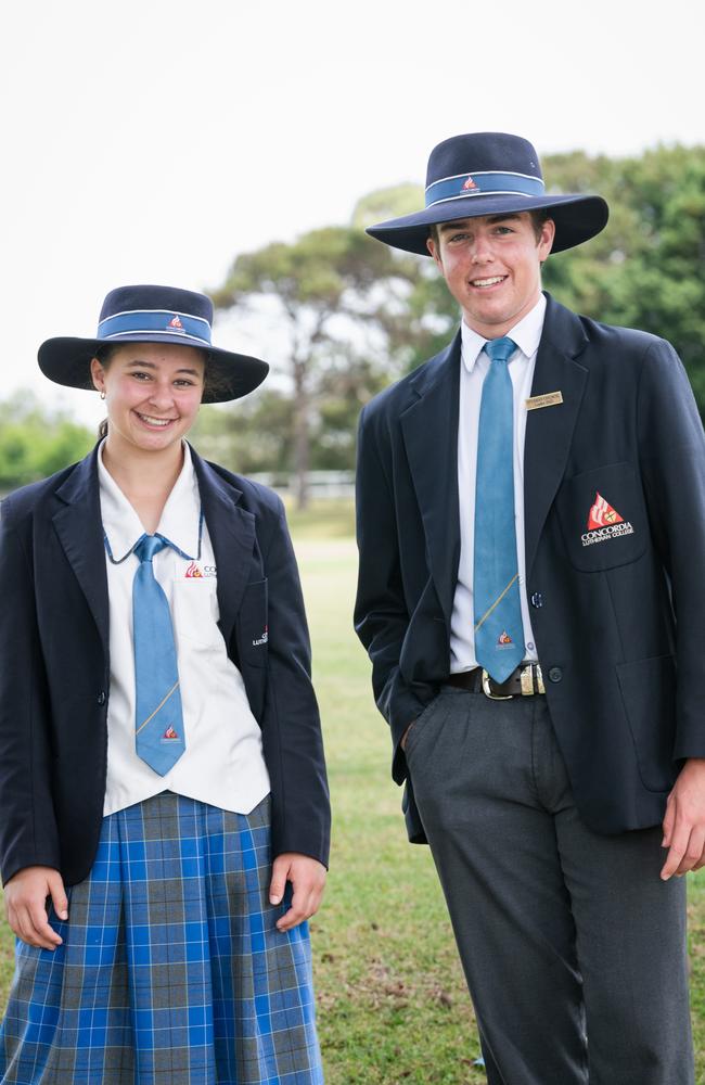
[[[551,191],[599,192],[611,207],[603,233],[549,258],[546,289],[586,316],[670,340],[705,416],[705,145],[624,158],[576,151],[543,166]],[[422,204],[413,184],[373,192],[349,225],[241,254],[207,288],[221,318],[255,332],[273,376],[245,400],[201,412],[193,436],[205,456],[245,474],[293,473],[299,503],[308,471],[354,467],[360,408],[459,321],[431,259],[363,232]],[[0,404],[0,490],[79,458],[93,439],[31,397]]]

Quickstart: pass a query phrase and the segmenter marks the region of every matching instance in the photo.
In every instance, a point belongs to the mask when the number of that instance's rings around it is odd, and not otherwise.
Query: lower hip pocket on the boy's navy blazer
[[[616,665],[637,763],[649,791],[669,791],[676,778],[676,660],[659,655]]]

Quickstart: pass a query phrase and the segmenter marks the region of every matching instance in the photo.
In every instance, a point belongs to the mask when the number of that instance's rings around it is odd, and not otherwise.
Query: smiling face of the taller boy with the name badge
[[[499,339],[536,305],[554,233],[552,219],[536,228],[521,212],[441,222],[427,244],[465,323]]]

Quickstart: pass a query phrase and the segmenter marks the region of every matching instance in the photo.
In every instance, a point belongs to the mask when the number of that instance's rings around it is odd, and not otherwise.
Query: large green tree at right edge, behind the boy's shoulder
[[[588,316],[670,340],[705,413],[705,146],[575,152],[544,169],[563,191],[600,192],[611,207],[603,233],[548,260],[547,288]]]

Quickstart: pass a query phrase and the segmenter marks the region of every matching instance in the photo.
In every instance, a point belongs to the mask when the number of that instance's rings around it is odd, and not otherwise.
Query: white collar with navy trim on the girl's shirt
[[[185,441],[182,448],[183,467],[164,506],[156,534],[163,535],[184,554],[196,558],[201,537],[201,497],[191,450]],[[102,444],[98,450],[98,480],[103,532],[113,560],[120,561],[144,535],[144,526],[103,463]]]

